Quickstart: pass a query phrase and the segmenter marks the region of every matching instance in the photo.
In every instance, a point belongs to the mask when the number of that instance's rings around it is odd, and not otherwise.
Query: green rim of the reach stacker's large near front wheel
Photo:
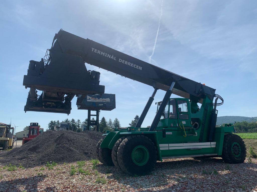
[[[138,145],[133,149],[131,157],[136,165],[143,166],[149,160],[149,151],[145,146]]]

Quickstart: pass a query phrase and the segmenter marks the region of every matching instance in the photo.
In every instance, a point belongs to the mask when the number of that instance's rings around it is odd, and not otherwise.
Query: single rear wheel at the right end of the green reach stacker
[[[222,159],[226,163],[243,163],[246,157],[246,147],[242,138],[235,134],[224,136]]]

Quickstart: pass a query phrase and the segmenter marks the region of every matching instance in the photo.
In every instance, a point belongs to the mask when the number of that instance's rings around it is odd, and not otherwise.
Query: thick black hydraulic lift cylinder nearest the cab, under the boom
[[[161,114],[162,114],[163,110],[165,109],[165,107],[166,107],[166,105],[167,105],[167,103],[170,99],[170,96],[172,94],[172,89],[173,89],[174,85],[175,85],[175,82],[172,82],[170,88],[167,90],[166,94],[164,95],[164,98],[161,102],[160,108],[158,109],[158,111],[157,111],[157,113],[156,113],[156,115],[153,119],[153,122],[152,122],[152,124],[149,128],[149,131],[155,131],[155,129],[156,129],[156,127],[157,127],[157,125],[158,125],[158,123],[161,119]]]

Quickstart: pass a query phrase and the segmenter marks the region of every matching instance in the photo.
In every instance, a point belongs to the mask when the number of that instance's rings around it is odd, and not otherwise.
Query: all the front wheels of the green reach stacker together
[[[147,175],[155,167],[157,150],[152,142],[143,135],[121,137],[112,150],[101,148],[101,139],[96,146],[97,157],[105,165],[115,165],[129,175]]]

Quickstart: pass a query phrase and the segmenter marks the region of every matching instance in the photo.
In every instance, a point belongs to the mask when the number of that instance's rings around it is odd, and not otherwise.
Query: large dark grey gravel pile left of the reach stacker
[[[46,131],[21,147],[0,153],[0,165],[34,167],[54,161],[68,163],[95,159],[95,147],[102,133]]]

